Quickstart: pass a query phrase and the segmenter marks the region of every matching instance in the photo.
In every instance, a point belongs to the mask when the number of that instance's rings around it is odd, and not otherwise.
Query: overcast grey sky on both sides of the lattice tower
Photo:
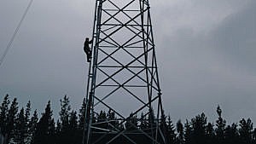
[[[29,0],[0,2],[0,55]],[[256,122],[256,1],[151,0],[165,112],[174,121],[205,112]],[[55,114],[68,95],[74,109],[84,97],[88,64],[84,37],[93,26],[93,0],[34,0],[0,67],[0,98],[28,100]]]

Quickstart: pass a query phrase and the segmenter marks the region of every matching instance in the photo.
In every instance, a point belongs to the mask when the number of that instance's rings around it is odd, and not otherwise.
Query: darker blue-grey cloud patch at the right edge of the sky
[[[234,71],[255,76],[256,2],[230,14],[212,32],[212,45],[233,66]]]

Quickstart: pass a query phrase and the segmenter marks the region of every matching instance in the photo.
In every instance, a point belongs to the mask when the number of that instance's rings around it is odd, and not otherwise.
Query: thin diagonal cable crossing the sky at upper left
[[[31,0],[31,1],[28,3],[28,5],[27,5],[27,7],[26,7],[26,10],[25,10],[24,14],[23,14],[22,17],[21,17],[20,22],[19,22],[18,26],[17,26],[16,29],[15,29],[15,33],[14,33],[13,36],[11,37],[11,39],[10,39],[10,41],[9,41],[9,43],[8,43],[8,45],[7,45],[7,47],[6,47],[6,49],[5,49],[4,52],[3,52],[3,55],[2,55],[2,57],[1,57],[1,59],[0,59],[0,67],[2,66],[3,61],[5,60],[5,57],[6,57],[7,53],[9,52],[9,49],[11,48],[12,43],[14,42],[17,33],[18,33],[19,30],[20,30],[20,26],[21,26],[23,20],[26,18],[26,14],[27,14],[28,10],[30,9],[30,7],[31,7],[31,5],[32,5],[32,2],[33,2],[33,0]]]

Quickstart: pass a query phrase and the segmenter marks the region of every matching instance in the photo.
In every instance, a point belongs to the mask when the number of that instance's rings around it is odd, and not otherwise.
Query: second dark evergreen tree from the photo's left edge
[[[7,114],[7,141],[12,142],[15,139],[15,124],[17,119],[17,113],[18,113],[18,102],[15,98],[12,101],[11,106],[9,107],[9,111]]]

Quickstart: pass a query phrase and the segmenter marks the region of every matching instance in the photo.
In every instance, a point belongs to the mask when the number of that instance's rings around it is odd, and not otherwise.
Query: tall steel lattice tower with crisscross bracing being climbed
[[[148,0],[96,0],[84,144],[166,143],[149,9]]]

